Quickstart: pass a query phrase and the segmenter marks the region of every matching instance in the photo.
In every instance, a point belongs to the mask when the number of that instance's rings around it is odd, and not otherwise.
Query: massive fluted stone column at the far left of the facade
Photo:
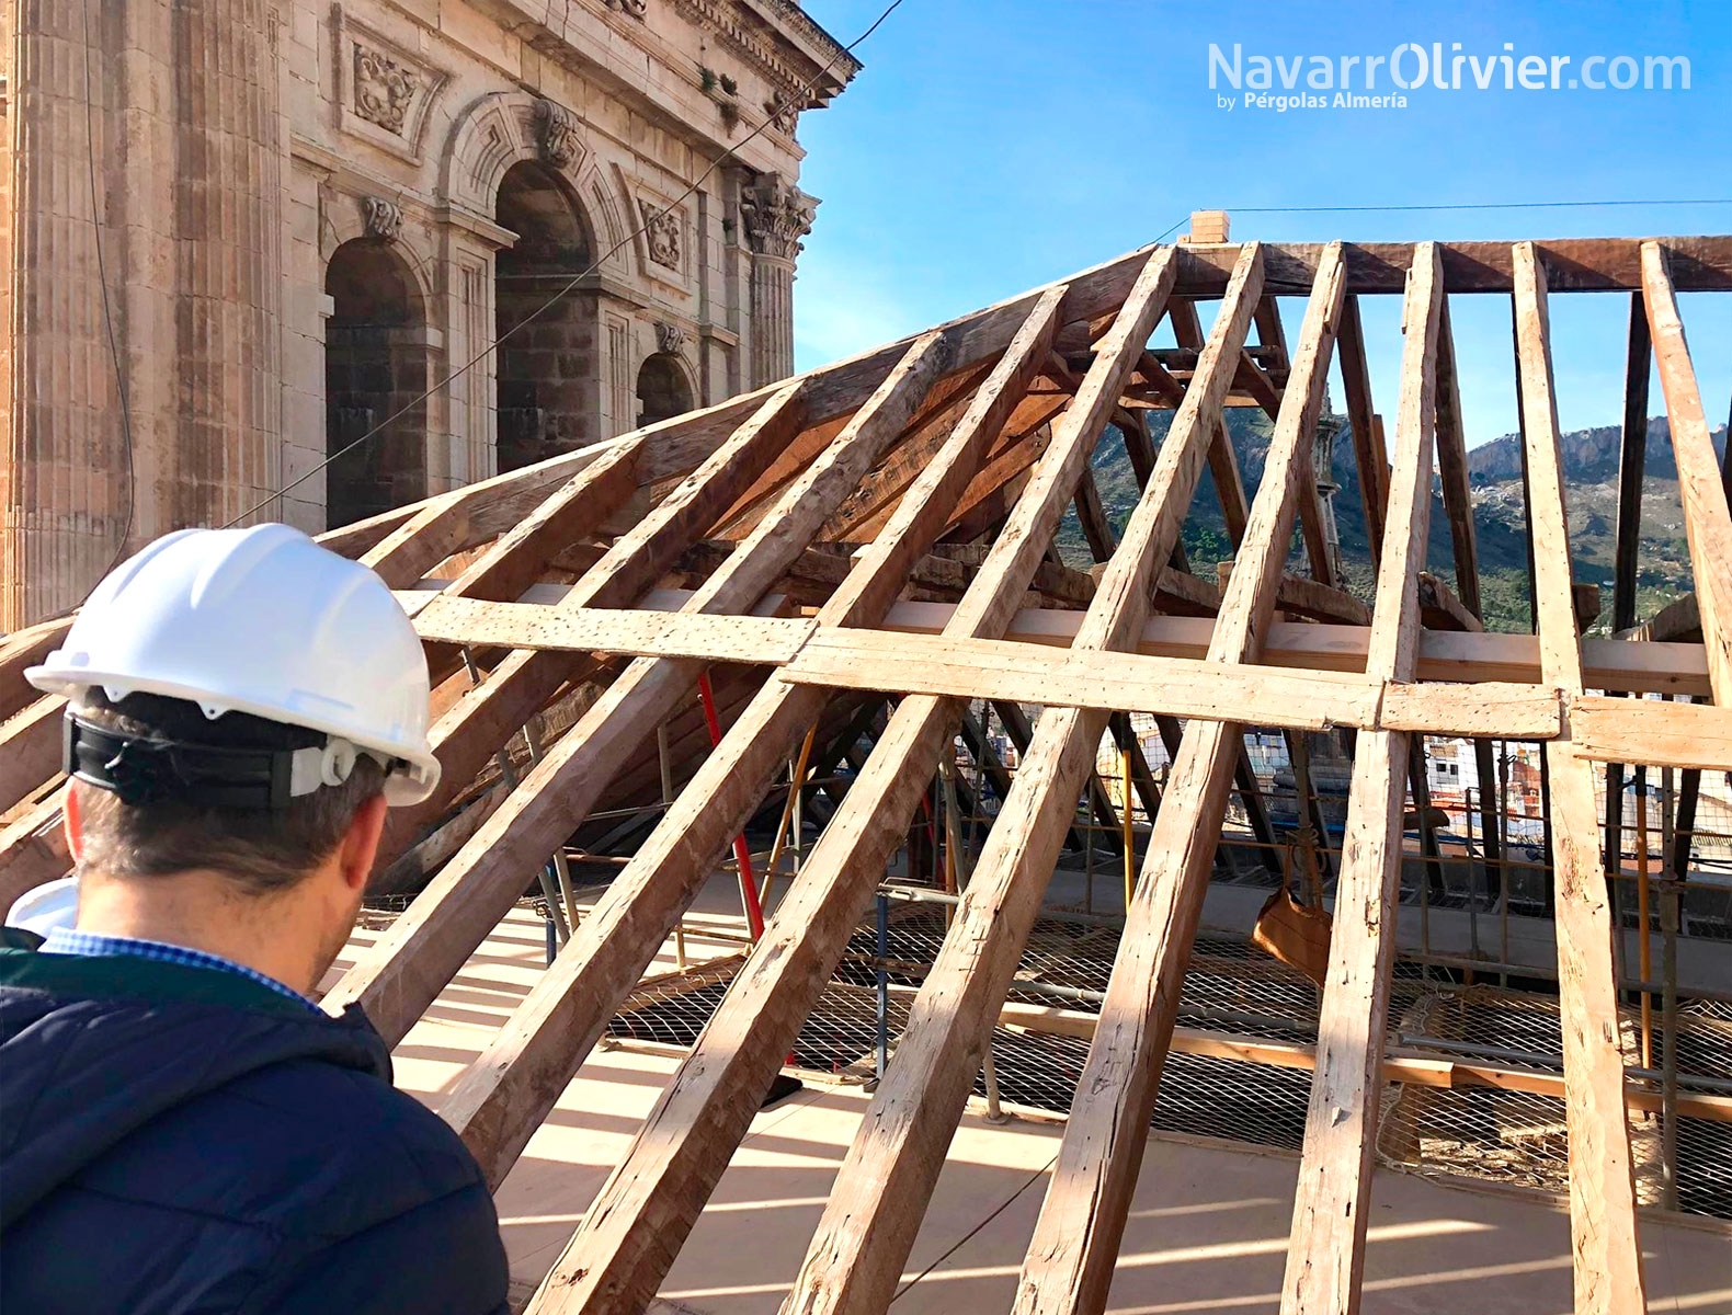
[[[275,483],[279,2],[12,9],[0,627]]]

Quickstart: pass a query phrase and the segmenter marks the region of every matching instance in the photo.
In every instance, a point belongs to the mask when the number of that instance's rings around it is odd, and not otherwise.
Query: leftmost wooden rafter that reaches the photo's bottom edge
[[[1011,513],[1011,525],[958,606],[951,622],[954,638],[996,636],[1015,613],[1114,398],[1154,329],[1171,270],[1173,253],[1160,249],[1138,275],[1076,404],[1058,421],[1036,476]],[[901,702],[800,882],[783,899],[727,998],[554,1265],[532,1305],[537,1315],[556,1310],[599,1315],[650,1301],[847,946],[859,910],[883,873],[883,859],[954,735],[956,719],[958,710],[946,700]],[[1024,764],[1013,795],[1027,792],[1027,771]],[[1074,792],[1065,807],[1074,814]],[[994,826],[994,835],[999,830],[1003,825]],[[979,868],[973,880],[980,880]]]

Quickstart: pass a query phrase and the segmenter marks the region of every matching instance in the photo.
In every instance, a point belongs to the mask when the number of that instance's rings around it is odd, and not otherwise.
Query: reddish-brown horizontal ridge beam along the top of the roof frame
[[[1682,291],[1732,289],[1732,237],[1562,237],[1538,243],[1552,293],[1612,293],[1642,286],[1642,243],[1658,241],[1671,262],[1671,284]],[[1346,243],[1349,293],[1399,293],[1413,263],[1413,243]],[[1301,295],[1316,277],[1323,243],[1261,243],[1264,289]],[[1219,296],[1238,258],[1238,244],[1185,246],[1178,296]],[[1439,243],[1446,293],[1510,293],[1516,289],[1509,243]]]

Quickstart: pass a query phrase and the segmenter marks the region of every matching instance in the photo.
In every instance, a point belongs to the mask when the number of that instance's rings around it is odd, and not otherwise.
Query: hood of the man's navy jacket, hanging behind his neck
[[[359,1007],[333,1019],[213,968],[0,949],[0,1228],[165,1111],[288,1060],[391,1074]]]

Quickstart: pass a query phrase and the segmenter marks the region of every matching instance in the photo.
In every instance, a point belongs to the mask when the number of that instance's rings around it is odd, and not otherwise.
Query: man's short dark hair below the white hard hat
[[[80,717],[106,731],[220,748],[305,748],[326,738],[246,712],[206,717],[197,703],[161,695],[128,695],[113,703],[90,690],[74,705]],[[357,754],[343,785],[322,785],[275,811],[173,799],[123,804],[88,781],[73,780],[73,788],[83,818],[83,866],[121,880],[208,868],[244,894],[265,896],[296,885],[331,856],[355,813],[385,788],[385,768]]]

